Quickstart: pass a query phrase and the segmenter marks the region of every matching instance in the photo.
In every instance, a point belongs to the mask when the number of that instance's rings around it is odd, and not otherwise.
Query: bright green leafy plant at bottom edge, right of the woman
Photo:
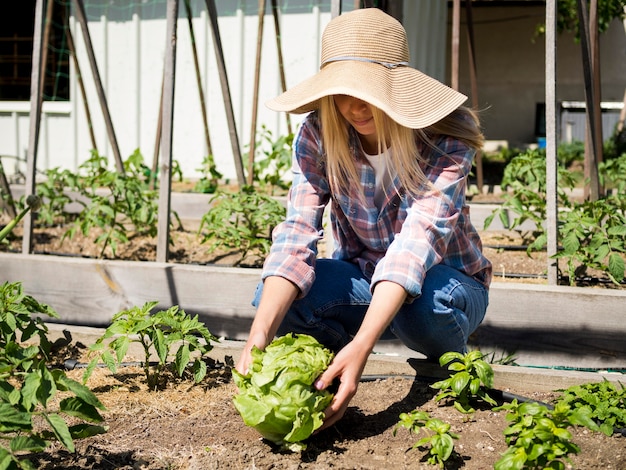
[[[580,452],[567,428],[581,425],[597,430],[585,410],[572,409],[567,403],[549,410],[539,403],[513,400],[494,410],[506,410],[510,422],[504,430],[509,448],[496,462],[496,470],[565,469],[563,460],[569,462],[570,454]]]

